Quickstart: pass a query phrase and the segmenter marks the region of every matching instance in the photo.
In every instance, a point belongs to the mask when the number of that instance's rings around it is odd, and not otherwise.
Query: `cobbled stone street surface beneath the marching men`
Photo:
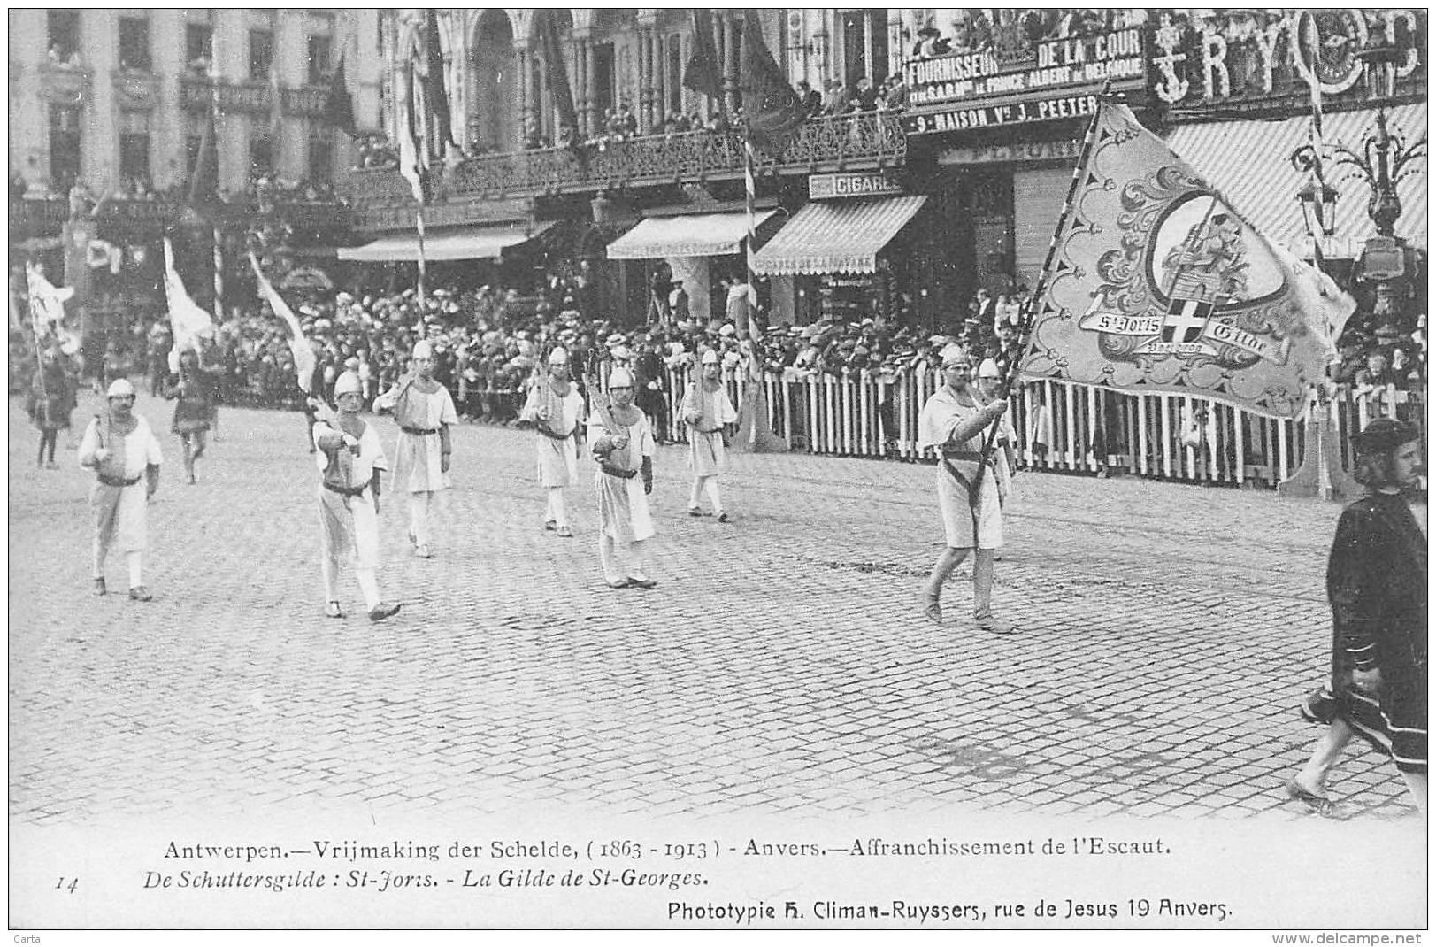
[[[88,417],[85,402],[76,420]],[[36,470],[10,402],[10,813],[63,825],[177,806],[1313,818],[1281,787],[1318,730],[1337,507],[1134,479],[1017,481],[997,604],[1021,634],[936,628],[932,467],[740,457],[734,522],[684,514],[658,458],[651,592],[607,589],[590,466],[576,539],[540,526],[533,434],[464,425],[447,527],[406,555],[385,496],[381,583],[402,614],[322,615],[302,415],[225,408],[200,484],[171,407],[154,602],[89,593],[89,474]],[[381,421],[385,440],[392,424]],[[79,431],[76,431],[78,434]],[[965,616],[969,572],[946,592]],[[1353,747],[1357,819],[1409,819]]]

